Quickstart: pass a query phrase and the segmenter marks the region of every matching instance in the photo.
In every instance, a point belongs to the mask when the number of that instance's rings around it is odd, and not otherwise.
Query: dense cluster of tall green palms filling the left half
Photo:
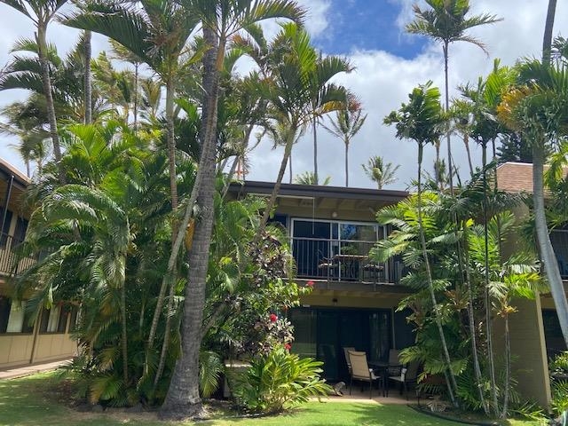
[[[0,75],[0,90],[30,93],[4,109],[2,126],[37,164],[22,256],[49,253],[20,277],[20,296],[33,290],[36,314],[81,301],[75,371],[92,401],[199,415],[200,377],[215,382],[201,367],[247,347],[252,326],[232,313],[252,321],[297,301],[281,280],[286,246],[258,253],[258,242],[276,238],[268,214],[292,147],[313,117],[353,98],[330,83],[352,66],[317,54],[292,0],[2,3],[36,26]],[[267,41],[259,23],[276,18],[288,23]],[[52,20],[83,30],[65,59],[47,42]],[[112,51],[91,58],[91,33]],[[257,67],[239,76],[243,56]],[[258,129],[284,146],[272,199],[226,201]]]

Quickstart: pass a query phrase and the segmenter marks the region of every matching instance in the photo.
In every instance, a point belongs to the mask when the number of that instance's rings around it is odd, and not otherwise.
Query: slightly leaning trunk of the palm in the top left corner
[[[47,24],[39,22],[37,25],[36,43],[37,57],[42,67],[42,83],[43,94],[45,95],[45,106],[47,108],[47,120],[50,124],[51,144],[53,145],[53,156],[59,167],[59,182],[65,184],[65,170],[61,166],[61,146],[59,145],[59,135],[57,132],[57,118],[55,117],[55,105],[53,103],[53,94],[51,92],[51,76],[49,59],[47,58],[47,42],[45,40],[45,32]]]

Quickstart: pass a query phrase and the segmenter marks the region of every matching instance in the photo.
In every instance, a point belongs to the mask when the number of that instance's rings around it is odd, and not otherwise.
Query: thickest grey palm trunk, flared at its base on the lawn
[[[203,27],[203,38],[211,46],[203,57],[203,88],[205,97],[201,118],[200,169],[202,183],[198,199],[201,220],[195,227],[193,249],[189,255],[189,271],[185,286],[184,315],[182,324],[182,351],[164,400],[160,416],[181,420],[201,413],[199,395],[199,351],[201,348],[201,323],[205,305],[205,284],[209,263],[209,246],[214,220],[215,156],[217,138],[217,101],[219,69],[225,54],[224,43],[218,43],[212,28]]]

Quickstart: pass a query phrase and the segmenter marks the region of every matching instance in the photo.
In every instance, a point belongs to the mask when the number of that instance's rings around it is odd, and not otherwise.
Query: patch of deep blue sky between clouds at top
[[[413,59],[424,48],[422,36],[408,36],[398,26],[401,5],[391,0],[332,0],[328,28],[314,42],[326,53],[388,51]]]

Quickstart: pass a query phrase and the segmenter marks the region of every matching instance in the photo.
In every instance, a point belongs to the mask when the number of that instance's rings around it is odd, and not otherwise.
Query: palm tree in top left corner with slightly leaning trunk
[[[57,118],[55,116],[55,106],[53,104],[53,95],[51,92],[47,27],[51,20],[56,16],[57,12],[59,12],[59,9],[67,3],[67,0],[0,0],[0,3],[6,4],[14,8],[18,12],[23,13],[34,22],[34,25],[36,27],[37,57],[41,65],[43,94],[45,95],[46,99],[51,143],[53,144],[53,155],[55,156],[55,161],[60,162],[61,146],[59,145]],[[59,178],[62,183],[65,182],[65,175],[63,170],[59,170]]]

